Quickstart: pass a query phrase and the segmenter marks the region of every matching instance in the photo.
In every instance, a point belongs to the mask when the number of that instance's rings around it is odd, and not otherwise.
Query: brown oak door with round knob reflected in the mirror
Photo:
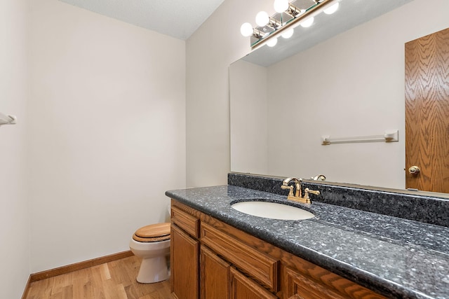
[[[406,188],[449,193],[449,28],[406,43]]]

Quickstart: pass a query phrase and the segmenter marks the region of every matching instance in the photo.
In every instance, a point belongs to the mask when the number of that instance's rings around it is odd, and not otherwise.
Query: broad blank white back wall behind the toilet
[[[33,0],[31,272],[128,250],[185,187],[185,42]]]

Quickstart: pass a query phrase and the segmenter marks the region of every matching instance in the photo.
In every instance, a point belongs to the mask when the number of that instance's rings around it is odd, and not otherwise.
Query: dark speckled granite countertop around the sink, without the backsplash
[[[449,298],[449,228],[230,185],[166,195],[389,298]],[[232,209],[248,199],[300,206],[316,217],[276,220]]]

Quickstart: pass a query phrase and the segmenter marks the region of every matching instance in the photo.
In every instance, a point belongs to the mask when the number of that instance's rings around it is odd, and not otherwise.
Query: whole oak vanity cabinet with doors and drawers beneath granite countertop
[[[382,295],[172,200],[178,299],[377,299]]]

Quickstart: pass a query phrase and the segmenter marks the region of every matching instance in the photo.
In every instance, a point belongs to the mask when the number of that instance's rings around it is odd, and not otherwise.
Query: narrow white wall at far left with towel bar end
[[[0,1],[0,298],[20,298],[29,276],[29,204],[25,168],[27,1]]]

